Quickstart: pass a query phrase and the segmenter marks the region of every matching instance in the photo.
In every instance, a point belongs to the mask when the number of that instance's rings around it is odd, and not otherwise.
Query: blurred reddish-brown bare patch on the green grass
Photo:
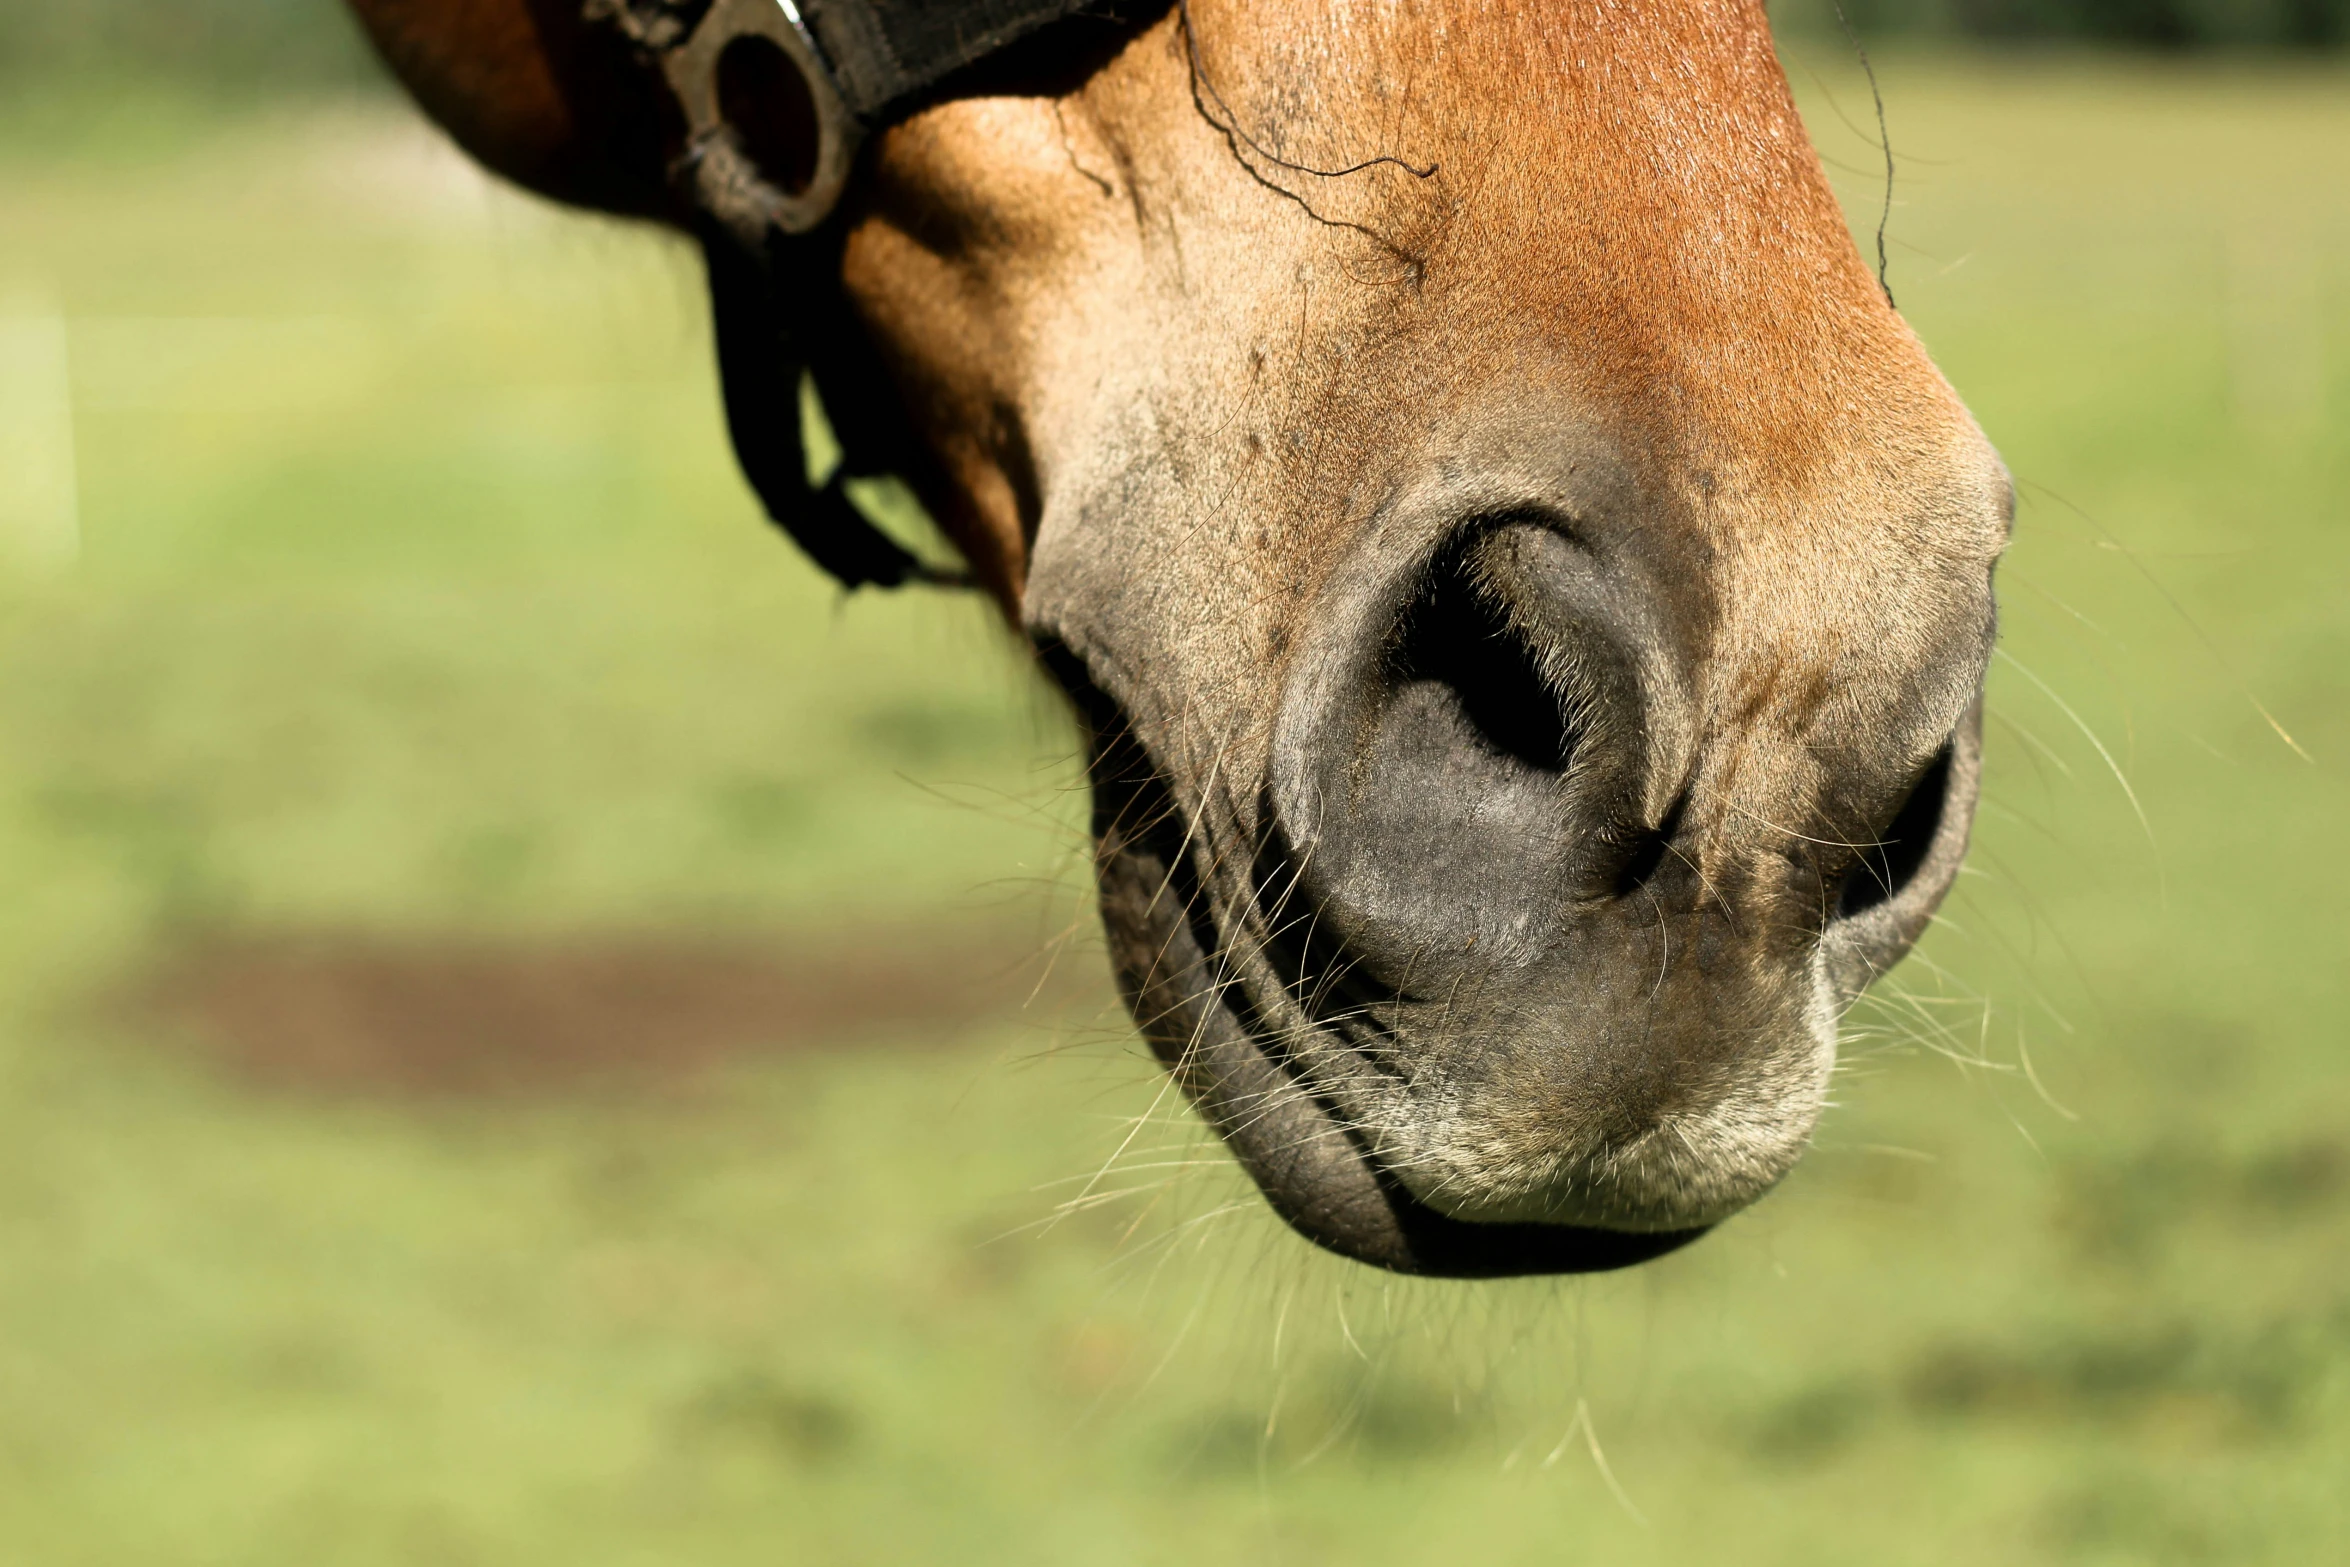
[[[1034,940],[870,928],[766,940],[280,933],[186,947],[129,994],[150,1034],[254,1085],[470,1097],[686,1088],[759,1052],[947,1048],[1104,1006]]]

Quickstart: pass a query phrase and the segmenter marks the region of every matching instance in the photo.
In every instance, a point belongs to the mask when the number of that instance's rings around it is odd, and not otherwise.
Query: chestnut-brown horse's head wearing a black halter
[[[947,576],[808,484],[801,366],[924,500],[1290,1226],[1591,1271],[1788,1172],[1967,848],[2014,491],[1760,0],[352,5],[477,160],[703,244],[820,564]]]

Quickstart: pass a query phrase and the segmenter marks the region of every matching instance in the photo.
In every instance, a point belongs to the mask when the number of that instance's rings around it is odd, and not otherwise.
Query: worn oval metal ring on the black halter
[[[806,108],[815,129],[813,160],[801,148],[780,148],[801,164],[794,169],[804,174],[792,181],[797,188],[787,188],[785,174],[773,167],[776,157],[764,157],[776,148],[745,139],[745,127],[728,117],[728,108],[738,108],[728,99],[738,89],[757,89],[761,73],[773,73],[780,63],[776,54],[806,89],[806,103],[790,108]],[[832,216],[865,127],[841,101],[792,0],[717,0],[693,35],[667,54],[663,73],[686,110],[686,172],[705,211],[752,249],[766,242],[768,228],[804,235]],[[776,78],[768,75],[766,85],[776,87]],[[759,108],[776,113],[778,106]]]

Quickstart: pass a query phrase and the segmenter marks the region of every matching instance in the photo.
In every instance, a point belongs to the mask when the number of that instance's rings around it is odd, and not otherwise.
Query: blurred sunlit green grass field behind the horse
[[[1281,1233],[1097,980],[486,1097],[141,1008],[228,937],[1090,975],[1083,808],[980,608],[761,529],[679,249],[383,103],[0,108],[0,409],[61,320],[80,498],[66,561],[0,472],[0,1560],[2336,1555],[2350,73],[1880,68],[2023,484],[1972,872],[1784,1191],[1502,1287]]]

